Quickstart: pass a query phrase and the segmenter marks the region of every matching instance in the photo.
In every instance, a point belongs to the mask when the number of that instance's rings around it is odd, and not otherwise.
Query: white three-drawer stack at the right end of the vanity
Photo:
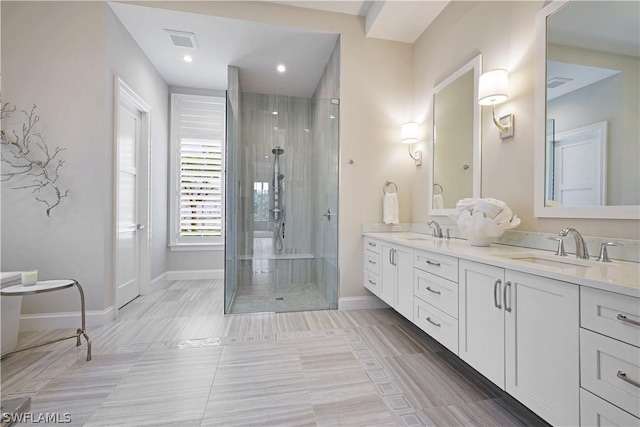
[[[640,299],[580,289],[582,425],[640,426]]]

